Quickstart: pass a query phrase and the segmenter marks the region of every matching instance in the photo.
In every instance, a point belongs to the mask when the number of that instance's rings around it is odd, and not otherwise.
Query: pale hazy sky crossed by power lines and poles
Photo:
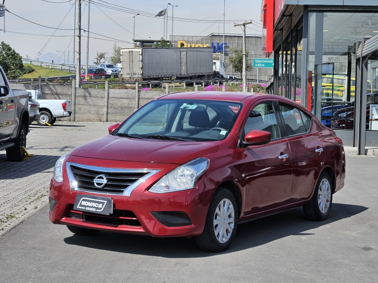
[[[68,2],[68,0],[48,0],[53,2],[63,2],[63,3],[51,3],[43,0],[5,0],[6,8],[30,21],[50,26],[58,27],[60,22],[68,13],[67,17],[62,22],[60,28],[62,29],[72,29],[74,27],[74,8],[71,4],[74,3],[73,0]],[[100,0],[96,0],[101,2]],[[104,0],[112,4],[124,6],[130,9],[140,10],[149,13],[158,13],[160,10],[167,6],[168,1],[160,0]],[[103,2],[104,3],[104,2]],[[104,3],[106,4],[106,3]],[[173,0],[172,4],[178,4],[175,7],[174,16],[182,18],[193,18],[193,19],[211,19],[216,20],[220,18],[222,20],[223,15],[223,1],[210,1],[210,0]],[[87,29],[88,22],[88,6],[83,4],[82,11],[85,7],[82,28]],[[116,23],[111,21],[106,17],[98,7],[105,12],[111,19],[117,22],[119,25],[124,27],[126,30],[119,27]],[[97,34],[105,35],[115,39],[132,42],[132,31],[133,31],[133,14],[125,13],[121,11],[116,11],[108,9],[106,7],[100,7],[91,4],[91,26],[90,31]],[[226,0],[226,20],[255,20],[260,23],[260,10],[261,10],[261,0]],[[172,15],[172,7],[169,7],[169,15]],[[163,20],[159,18],[145,17],[139,15],[135,20],[135,38],[149,38],[160,39],[163,36]],[[250,28],[256,30],[247,29],[247,34],[261,34],[261,27],[256,25],[249,25]],[[0,19],[0,28],[3,28],[3,21]],[[208,29],[206,29],[208,28]],[[205,30],[206,29],[206,30]],[[43,34],[51,35],[54,29],[45,28],[32,24],[30,22],[24,21],[23,19],[17,18],[16,16],[6,12],[5,14],[5,30],[12,32],[22,32],[30,34]],[[168,34],[172,32],[172,22],[169,22]],[[207,35],[210,33],[218,32],[218,23],[195,23],[195,22],[180,22],[174,21],[174,34],[175,35]],[[223,32],[223,24],[219,24],[219,32]],[[226,23],[225,27],[226,33],[241,33],[240,27],[234,27],[233,23]],[[64,51],[70,50],[70,57],[72,61],[73,52],[73,31],[71,30],[58,30],[55,35],[67,36],[67,37],[53,37],[46,47],[43,49],[42,54],[51,52],[56,53],[56,50]],[[84,36],[87,34],[84,33]],[[92,35],[94,37],[101,37],[97,35]],[[43,48],[43,46],[48,41],[49,37],[44,36],[33,36],[33,35],[21,35],[15,33],[3,33],[0,32],[0,40],[10,44],[18,53],[22,56],[29,55],[32,59],[38,54],[38,52]],[[72,41],[71,41],[72,40]],[[71,42],[71,43],[70,43]],[[90,39],[90,63],[93,63],[93,58],[95,57],[97,51],[105,51],[111,53],[114,40],[98,40]],[[117,43],[121,47],[131,47],[131,44],[127,43]],[[85,62],[84,58],[86,56],[87,50],[87,39],[83,37],[82,40],[82,63]],[[59,54],[60,55],[60,54]]]

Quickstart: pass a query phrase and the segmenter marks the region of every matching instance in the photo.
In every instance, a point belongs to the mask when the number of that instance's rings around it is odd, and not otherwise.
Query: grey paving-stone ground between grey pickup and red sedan
[[[0,236],[48,203],[56,160],[77,146],[107,134],[112,123],[57,122],[52,127],[30,126],[26,149],[34,154],[9,162],[0,151]]]

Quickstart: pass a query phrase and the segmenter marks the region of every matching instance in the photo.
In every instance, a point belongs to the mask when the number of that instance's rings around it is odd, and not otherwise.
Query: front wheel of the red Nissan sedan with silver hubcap
[[[225,188],[215,192],[201,235],[195,237],[198,247],[207,252],[226,250],[236,233],[238,209],[234,195]]]

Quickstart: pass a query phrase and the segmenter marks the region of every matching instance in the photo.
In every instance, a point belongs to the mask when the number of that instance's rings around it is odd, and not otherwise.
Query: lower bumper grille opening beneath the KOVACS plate
[[[89,212],[70,210],[68,217],[82,219],[85,222],[109,226],[142,226],[133,212],[123,210],[113,210],[113,213],[110,215],[99,215]]]

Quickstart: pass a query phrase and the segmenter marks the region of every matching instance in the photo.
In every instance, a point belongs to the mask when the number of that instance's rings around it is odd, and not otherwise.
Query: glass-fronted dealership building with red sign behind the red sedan
[[[301,103],[345,145],[378,146],[378,1],[264,0],[267,92]]]

